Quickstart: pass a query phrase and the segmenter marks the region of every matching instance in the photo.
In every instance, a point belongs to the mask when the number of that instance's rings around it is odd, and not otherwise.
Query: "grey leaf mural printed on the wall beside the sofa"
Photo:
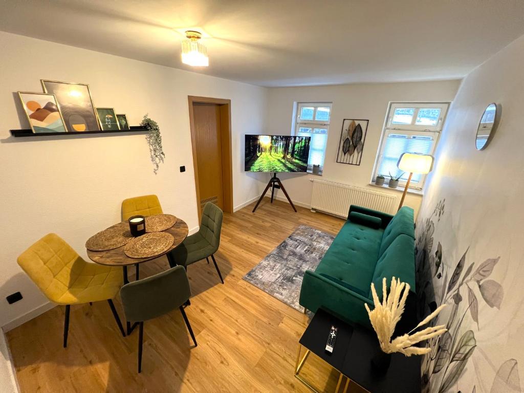
[[[440,304],[446,303],[450,306],[447,315],[442,312],[433,322],[434,325],[445,324],[448,331],[428,342],[432,351],[422,362],[422,391],[521,392],[518,362],[514,358],[507,359],[499,367],[489,390],[487,386],[477,388],[476,384],[466,388],[460,383],[465,373],[473,372],[472,358],[476,355],[477,347],[481,345],[477,342],[476,335],[489,323],[489,318],[497,318],[494,312],[503,311],[505,291],[504,287],[492,278],[501,260],[500,256],[488,257],[478,263],[468,256],[468,247],[455,263],[443,261],[443,256],[446,255],[445,246],[440,241],[436,242],[435,246],[434,237],[435,233],[440,233],[444,209],[445,200],[441,200],[423,224],[420,220],[417,225],[416,275],[419,288],[419,318],[428,315]],[[440,291],[435,291],[438,287]],[[485,323],[479,324],[479,321]]]

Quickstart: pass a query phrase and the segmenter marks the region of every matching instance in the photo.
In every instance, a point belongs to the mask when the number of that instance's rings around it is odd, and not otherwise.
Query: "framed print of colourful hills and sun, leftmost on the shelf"
[[[33,133],[65,133],[65,124],[53,94],[18,92]]]

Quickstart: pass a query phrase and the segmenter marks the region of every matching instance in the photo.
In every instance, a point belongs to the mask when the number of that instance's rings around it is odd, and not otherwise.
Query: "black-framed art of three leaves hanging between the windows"
[[[369,120],[344,119],[336,162],[360,165]]]

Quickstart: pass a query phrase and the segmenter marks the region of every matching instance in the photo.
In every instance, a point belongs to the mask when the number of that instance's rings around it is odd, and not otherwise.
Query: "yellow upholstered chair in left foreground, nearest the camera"
[[[67,346],[71,304],[107,300],[125,337],[112,299],[123,285],[122,269],[83,260],[61,237],[50,233],[18,257],[18,265],[45,296],[65,304],[63,346]]]

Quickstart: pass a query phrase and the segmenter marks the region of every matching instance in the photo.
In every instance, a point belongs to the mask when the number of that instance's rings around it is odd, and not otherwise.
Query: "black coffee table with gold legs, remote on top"
[[[329,354],[325,352],[325,345],[331,325],[339,330],[333,353]],[[302,346],[306,352],[300,358]],[[317,391],[300,375],[300,369],[309,354],[314,353],[340,372],[335,393],[342,387],[344,377],[347,378],[344,392],[351,381],[371,393],[420,393],[421,357],[392,354],[389,368],[385,372],[378,372],[371,364],[371,359],[378,350],[378,339],[373,330],[352,326],[324,310],[319,310],[299,340],[295,377]]]

